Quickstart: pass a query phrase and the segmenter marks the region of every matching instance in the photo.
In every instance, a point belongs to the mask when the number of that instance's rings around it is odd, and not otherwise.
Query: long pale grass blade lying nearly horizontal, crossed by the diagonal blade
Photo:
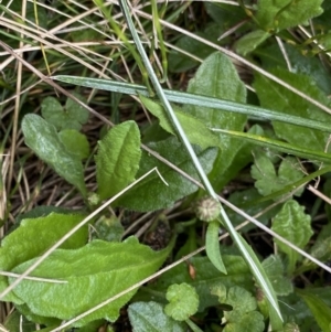
[[[136,95],[136,96],[137,95],[142,95],[147,97],[150,96],[148,89],[145,86],[125,83],[125,82],[107,81],[104,78],[68,76],[68,75],[57,75],[57,76],[53,76],[52,78],[64,83],[70,83],[78,86],[86,86],[90,88],[97,88],[102,90],[122,93],[122,94]],[[215,108],[224,111],[233,111],[237,114],[254,116],[266,120],[281,121],[286,124],[292,124],[306,128],[318,129],[321,131],[330,132],[330,126],[321,121],[303,119],[291,115],[280,114],[275,110],[270,110],[263,107],[245,105],[241,103],[222,100],[213,97],[200,96],[200,95],[169,90],[169,89],[163,89],[163,93],[168,98],[168,100],[173,103],[204,106],[204,107]]]

